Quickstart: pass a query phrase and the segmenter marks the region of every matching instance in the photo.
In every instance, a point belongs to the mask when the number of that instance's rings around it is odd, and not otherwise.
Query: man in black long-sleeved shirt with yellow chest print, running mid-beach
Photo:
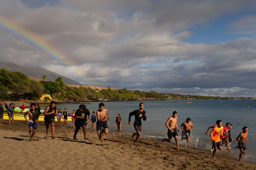
[[[136,145],[136,142],[137,142],[139,136],[141,135],[141,119],[143,119],[143,121],[146,120],[146,112],[143,109],[144,109],[144,104],[139,103],[139,109],[134,110],[133,112],[129,113],[128,125],[131,124],[130,117],[133,116],[133,115],[135,117],[133,127],[134,127],[136,133],[134,132],[132,137],[131,137],[131,138],[133,138],[136,135],[136,139],[135,139],[133,145]]]

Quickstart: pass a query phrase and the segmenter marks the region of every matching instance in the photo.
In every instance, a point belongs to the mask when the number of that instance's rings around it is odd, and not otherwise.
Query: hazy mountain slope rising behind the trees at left
[[[36,67],[30,67],[25,68],[20,65],[14,64],[14,63],[0,63],[0,68],[4,68],[7,71],[19,71],[21,73],[24,73],[27,76],[36,77],[39,79],[42,79],[42,76],[47,76],[47,80],[54,81],[58,77],[62,77],[62,81],[65,84],[72,84],[72,85],[82,85],[78,83],[77,81],[71,80],[65,76],[59,75],[57,73],[51,72],[49,70],[46,70],[40,66]]]

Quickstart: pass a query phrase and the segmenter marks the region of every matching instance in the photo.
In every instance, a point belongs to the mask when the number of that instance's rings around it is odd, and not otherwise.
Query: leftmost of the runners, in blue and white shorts
[[[30,108],[31,109],[24,114],[24,118],[25,118],[26,123],[28,124],[28,128],[29,128],[29,132],[28,132],[28,138],[30,137],[29,141],[31,141],[32,138],[34,137],[38,118],[40,115],[38,112],[36,112],[34,103],[30,104]],[[26,119],[26,115],[29,116],[28,120]],[[31,134],[31,132],[32,132],[32,134]]]

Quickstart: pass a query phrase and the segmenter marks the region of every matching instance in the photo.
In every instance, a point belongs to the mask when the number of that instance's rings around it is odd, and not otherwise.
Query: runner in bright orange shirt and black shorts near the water
[[[215,159],[215,153],[218,150],[222,150],[221,144],[222,141],[220,140],[220,135],[223,136],[223,127],[222,127],[222,121],[217,120],[216,121],[217,126],[213,128],[210,132],[210,139],[212,142],[213,147],[213,153],[212,158]]]

